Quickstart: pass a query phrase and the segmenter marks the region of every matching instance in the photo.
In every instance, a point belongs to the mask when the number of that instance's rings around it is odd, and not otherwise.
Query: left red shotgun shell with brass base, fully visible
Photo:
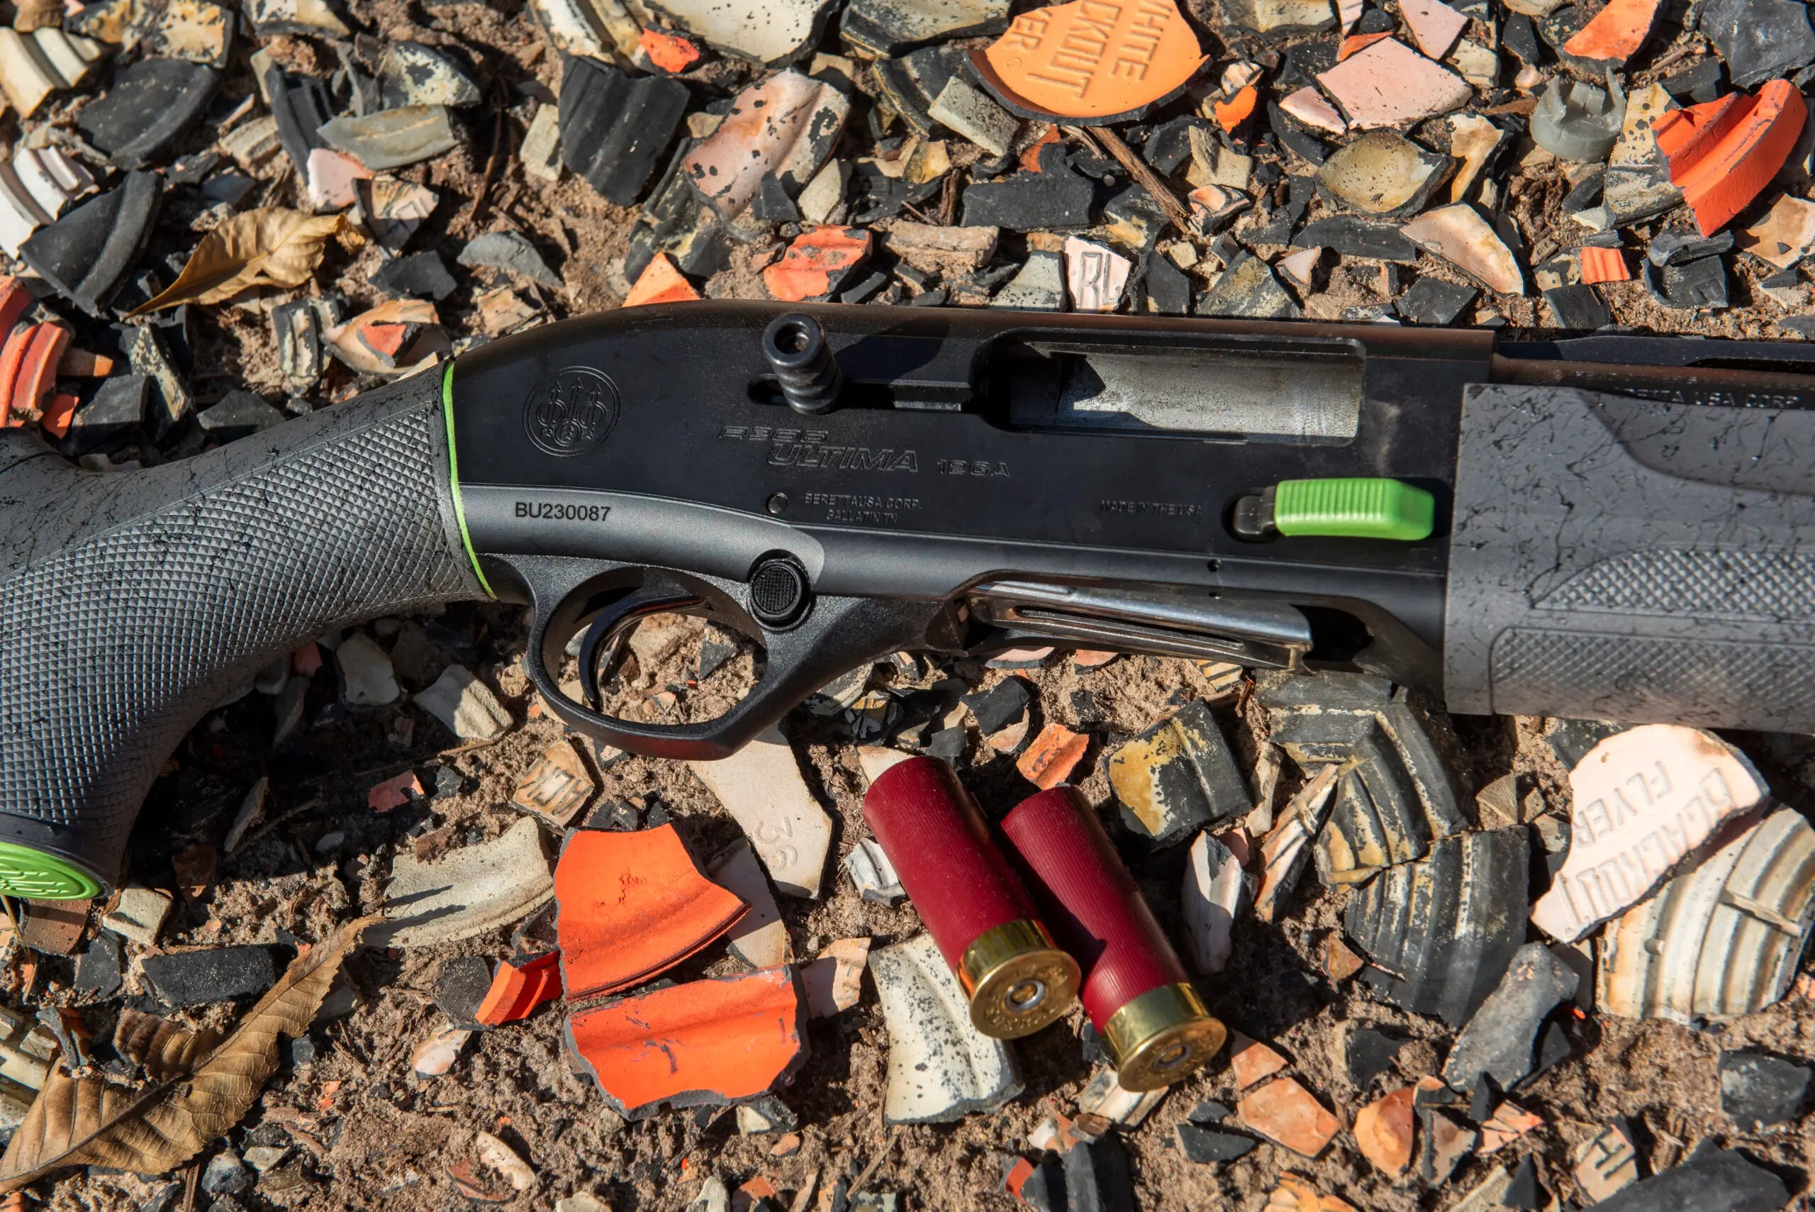
[[[1053,942],[946,762],[917,757],[886,769],[869,784],[864,820],[958,976],[978,1031],[1015,1040],[1071,1009],[1078,962]]]

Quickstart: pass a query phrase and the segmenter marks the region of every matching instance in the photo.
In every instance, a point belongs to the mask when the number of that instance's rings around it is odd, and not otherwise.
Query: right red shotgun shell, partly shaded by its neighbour
[[[1084,967],[1080,996],[1125,1090],[1158,1090],[1223,1047],[1185,965],[1076,787],[1042,791],[1002,818],[1060,945]]]

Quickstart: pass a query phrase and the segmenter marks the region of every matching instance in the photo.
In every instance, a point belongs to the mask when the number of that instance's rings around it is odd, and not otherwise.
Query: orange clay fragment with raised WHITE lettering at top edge
[[[1172,0],[1073,0],[1022,13],[971,62],[1022,118],[1131,118],[1203,67],[1203,47]]]

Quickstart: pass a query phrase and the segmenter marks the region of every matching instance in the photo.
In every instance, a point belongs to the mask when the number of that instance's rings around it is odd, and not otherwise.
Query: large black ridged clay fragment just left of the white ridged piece
[[[1349,902],[1343,927],[1385,1000],[1461,1027],[1525,943],[1530,849],[1525,826],[1465,833],[1430,856],[1387,867]]]

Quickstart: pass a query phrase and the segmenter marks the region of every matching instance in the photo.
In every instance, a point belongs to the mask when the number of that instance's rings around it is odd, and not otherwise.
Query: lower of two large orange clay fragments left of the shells
[[[804,1014],[793,967],[766,967],[581,1011],[566,1043],[612,1109],[637,1118],[668,1100],[762,1094],[806,1056]]]

